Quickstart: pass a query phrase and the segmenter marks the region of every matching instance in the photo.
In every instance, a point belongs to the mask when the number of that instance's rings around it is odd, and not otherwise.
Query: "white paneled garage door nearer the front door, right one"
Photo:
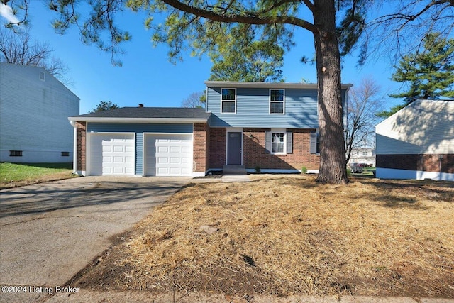
[[[145,175],[192,175],[192,135],[145,135]]]

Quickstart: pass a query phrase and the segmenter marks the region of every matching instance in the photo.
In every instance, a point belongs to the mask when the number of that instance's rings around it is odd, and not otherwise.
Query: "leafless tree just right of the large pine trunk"
[[[350,89],[345,126],[345,162],[350,160],[353,148],[364,144],[372,146],[370,138],[373,138],[379,119],[375,114],[382,111],[384,103],[380,92],[380,86],[371,78],[363,79],[358,87]]]

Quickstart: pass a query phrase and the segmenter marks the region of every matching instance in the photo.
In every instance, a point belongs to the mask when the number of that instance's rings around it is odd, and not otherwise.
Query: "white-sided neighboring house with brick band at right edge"
[[[375,130],[377,177],[454,181],[454,101],[414,101]]]

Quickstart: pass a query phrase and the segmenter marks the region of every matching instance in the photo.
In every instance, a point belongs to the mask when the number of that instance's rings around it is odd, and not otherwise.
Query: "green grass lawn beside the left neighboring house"
[[[0,162],[0,189],[70,177],[72,163]]]

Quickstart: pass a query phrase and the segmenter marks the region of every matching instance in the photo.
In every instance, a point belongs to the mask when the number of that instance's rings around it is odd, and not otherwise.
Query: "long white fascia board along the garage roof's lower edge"
[[[98,123],[207,123],[208,119],[192,118],[108,118],[108,117],[68,117],[70,121],[98,122]]]

